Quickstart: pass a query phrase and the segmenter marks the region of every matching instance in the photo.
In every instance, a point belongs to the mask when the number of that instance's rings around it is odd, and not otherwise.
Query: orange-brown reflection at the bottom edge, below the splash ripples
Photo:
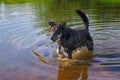
[[[89,66],[88,64],[69,67],[59,66],[57,80],[87,80]]]

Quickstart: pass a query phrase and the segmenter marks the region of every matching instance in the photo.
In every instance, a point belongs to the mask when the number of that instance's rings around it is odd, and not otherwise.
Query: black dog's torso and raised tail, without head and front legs
[[[80,30],[74,30],[71,28],[65,28],[66,38],[61,40],[62,46],[74,50],[76,48],[86,46],[88,50],[93,50],[93,40],[89,33],[89,20],[88,17],[80,10],[76,10],[78,15],[82,18],[85,28]]]

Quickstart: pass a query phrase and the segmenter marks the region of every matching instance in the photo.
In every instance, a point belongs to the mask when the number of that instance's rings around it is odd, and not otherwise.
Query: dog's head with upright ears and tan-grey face
[[[60,40],[64,33],[66,23],[63,22],[61,24],[55,24],[55,22],[49,22],[48,24],[50,25],[51,40],[52,41]]]

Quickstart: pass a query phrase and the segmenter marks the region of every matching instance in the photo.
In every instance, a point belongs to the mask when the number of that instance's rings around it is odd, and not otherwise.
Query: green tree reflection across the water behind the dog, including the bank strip
[[[31,2],[31,8],[37,17],[36,21],[40,21],[37,27],[39,28],[42,25],[45,30],[48,26],[47,22],[50,20],[69,23],[78,21],[76,9],[81,9],[91,16],[95,15],[93,18],[97,21],[107,22],[120,17],[118,15],[120,13],[120,2],[118,0],[1,0],[0,2],[5,4]]]

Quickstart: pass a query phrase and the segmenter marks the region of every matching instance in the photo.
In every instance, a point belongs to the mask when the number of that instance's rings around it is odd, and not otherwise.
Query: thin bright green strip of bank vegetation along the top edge
[[[0,0],[0,2],[4,2],[6,4],[20,4],[20,3],[26,3],[26,2],[90,2],[90,3],[112,3],[112,4],[119,4],[120,0]]]

